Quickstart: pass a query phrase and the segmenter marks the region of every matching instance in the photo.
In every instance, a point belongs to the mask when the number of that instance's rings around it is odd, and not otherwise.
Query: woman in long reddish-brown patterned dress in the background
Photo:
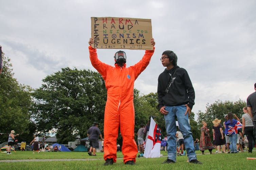
[[[214,146],[212,145],[211,139],[210,139],[210,133],[209,129],[207,128],[207,123],[202,121],[203,127],[201,127],[201,136],[200,136],[200,150],[202,154],[204,155],[205,150],[209,150],[210,154],[212,153],[212,150],[214,149]]]

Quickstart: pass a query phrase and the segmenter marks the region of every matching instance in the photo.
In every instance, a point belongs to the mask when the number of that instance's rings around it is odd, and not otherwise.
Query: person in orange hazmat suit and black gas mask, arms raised
[[[102,75],[107,89],[107,102],[104,115],[104,165],[116,162],[116,139],[118,129],[123,138],[123,159],[125,164],[134,165],[138,153],[134,141],[134,81],[148,66],[154,53],[154,39],[151,39],[153,50],[146,50],[143,58],[134,66],[126,67],[124,51],[115,53],[115,67],[102,63],[96,49],[92,48],[93,39],[89,40],[89,53],[92,66]]]

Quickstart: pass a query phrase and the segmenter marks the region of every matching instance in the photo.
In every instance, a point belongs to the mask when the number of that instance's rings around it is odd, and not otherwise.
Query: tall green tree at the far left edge
[[[27,141],[30,131],[31,87],[19,84],[14,78],[11,59],[3,53],[3,69],[0,74],[0,141],[6,141],[11,130],[19,133],[19,138]],[[19,139],[17,137],[17,139]]]

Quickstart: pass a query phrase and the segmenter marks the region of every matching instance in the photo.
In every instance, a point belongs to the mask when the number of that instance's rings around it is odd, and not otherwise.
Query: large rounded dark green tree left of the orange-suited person
[[[77,135],[87,137],[96,121],[103,133],[107,91],[99,73],[62,68],[45,77],[33,96],[37,130],[48,133],[56,129],[59,143],[73,141]]]

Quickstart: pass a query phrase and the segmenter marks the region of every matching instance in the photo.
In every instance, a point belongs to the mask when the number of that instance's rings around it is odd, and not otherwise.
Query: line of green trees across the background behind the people
[[[77,70],[76,68],[62,68],[60,71],[48,75],[42,81],[41,87],[32,89],[19,84],[14,78],[10,58],[3,55],[4,68],[0,74],[0,141],[6,141],[11,130],[20,133],[19,141],[30,142],[33,133],[49,135],[54,131],[58,143],[74,141],[77,135],[87,137],[87,130],[97,121],[104,134],[104,109],[107,91],[102,76],[91,70]],[[146,124],[149,116],[156,116],[156,122],[166,135],[163,115],[157,108],[157,93],[141,94],[134,89],[135,129],[140,124]],[[242,115],[245,101],[236,102],[217,100],[213,104],[206,104],[205,112],[199,111],[198,121],[195,113],[190,114],[190,126],[194,139],[200,138],[201,121],[212,128],[215,118],[224,121],[228,112]],[[127,118],[129,119],[129,118]],[[135,140],[136,140],[135,135]],[[118,143],[122,144],[121,134]]]

